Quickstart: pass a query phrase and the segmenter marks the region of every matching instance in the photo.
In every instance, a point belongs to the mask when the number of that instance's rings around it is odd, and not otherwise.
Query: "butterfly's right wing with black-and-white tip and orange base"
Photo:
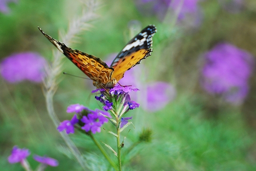
[[[117,82],[124,77],[124,72],[139,64],[142,59],[150,56],[152,50],[152,37],[156,32],[154,25],[149,25],[134,38],[128,42],[123,50],[116,56],[111,63],[111,67],[115,69],[112,77],[116,78]]]

